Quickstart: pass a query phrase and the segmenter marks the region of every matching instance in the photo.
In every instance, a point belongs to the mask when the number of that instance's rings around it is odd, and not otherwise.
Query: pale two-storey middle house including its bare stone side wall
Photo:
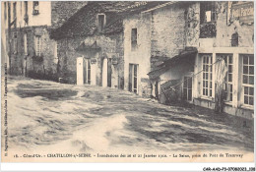
[[[148,73],[156,70],[162,60],[184,48],[184,10],[179,3],[162,2],[157,7],[124,19],[127,90],[144,96],[159,96],[159,76],[151,77],[150,82]]]

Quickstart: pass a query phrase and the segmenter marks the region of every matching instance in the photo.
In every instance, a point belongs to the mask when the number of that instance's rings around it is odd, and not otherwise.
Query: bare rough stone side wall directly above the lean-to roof
[[[185,45],[185,9],[179,4],[152,14],[152,56],[173,57]]]

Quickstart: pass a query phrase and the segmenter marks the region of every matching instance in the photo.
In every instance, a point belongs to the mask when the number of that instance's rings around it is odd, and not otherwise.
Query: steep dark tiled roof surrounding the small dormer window
[[[51,30],[51,38],[87,36],[96,33],[96,14],[106,15],[106,26],[102,33],[119,33],[123,30],[122,20],[127,15],[138,14],[154,8],[164,1],[89,1],[69,18],[60,28]]]

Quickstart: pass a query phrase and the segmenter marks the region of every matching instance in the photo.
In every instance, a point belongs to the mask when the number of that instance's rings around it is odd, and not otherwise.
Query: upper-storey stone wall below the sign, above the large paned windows
[[[200,3],[190,4],[186,10],[186,46],[230,47],[231,35],[237,32],[238,47],[253,47],[253,24],[241,24],[239,19],[229,22],[229,8],[228,2],[217,2],[217,34],[212,38],[200,38]]]

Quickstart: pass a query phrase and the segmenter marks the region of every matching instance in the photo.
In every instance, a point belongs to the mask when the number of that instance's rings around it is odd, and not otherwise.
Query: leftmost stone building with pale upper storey
[[[86,4],[57,1],[2,2],[2,44],[6,48],[10,73],[35,79],[57,80],[56,43],[50,39],[49,32],[62,25]]]

